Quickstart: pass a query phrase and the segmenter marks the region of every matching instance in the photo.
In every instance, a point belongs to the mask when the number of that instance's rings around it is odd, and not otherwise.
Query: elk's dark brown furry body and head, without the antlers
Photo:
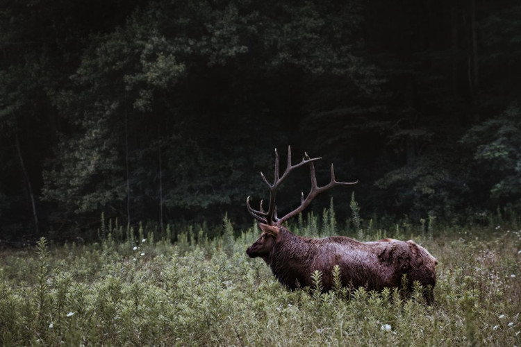
[[[331,271],[338,265],[342,284],[380,291],[384,287],[401,287],[406,275],[409,288],[419,281],[431,291],[436,285],[435,266],[438,261],[425,248],[395,239],[358,242],[342,236],[311,239],[294,235],[283,226],[260,223],[261,237],[246,251],[249,257],[262,257],[274,276],[283,285],[295,289],[297,282],[311,286],[311,274],[322,272],[324,291],[333,285]]]

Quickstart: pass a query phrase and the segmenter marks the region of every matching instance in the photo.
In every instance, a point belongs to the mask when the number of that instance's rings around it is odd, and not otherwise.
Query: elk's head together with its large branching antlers
[[[315,176],[315,165],[313,164],[313,162],[320,159],[321,158],[310,158],[309,155],[304,152],[304,158],[302,158],[301,162],[299,162],[298,164],[292,164],[291,148],[290,146],[288,146],[288,164],[286,165],[286,170],[284,171],[282,176],[280,176],[279,154],[275,149],[275,171],[273,183],[269,183],[264,174],[261,172],[261,177],[263,178],[264,183],[266,183],[268,189],[270,189],[270,203],[268,205],[267,211],[264,210],[262,200],[259,209],[254,210],[254,208],[251,208],[251,205],[249,204],[249,196],[246,199],[246,207],[248,209],[248,212],[251,214],[251,216],[253,216],[260,222],[259,226],[263,231],[261,237],[247,249],[246,253],[247,255],[249,255],[249,257],[262,257],[263,260],[265,260],[265,262],[269,264],[270,251],[272,249],[272,246],[275,244],[276,240],[279,237],[280,227],[284,221],[287,221],[291,217],[299,214],[311,203],[311,201],[313,201],[313,199],[318,194],[325,192],[326,190],[331,189],[332,187],[336,187],[338,185],[356,185],[356,183],[358,183],[358,181],[338,182],[335,178],[333,164],[331,164],[331,180],[329,184],[324,185],[323,187],[319,187],[317,185],[317,178]],[[298,208],[292,210],[285,216],[279,218],[276,213],[275,203],[277,189],[279,188],[283,180],[285,180],[288,177],[292,170],[297,169],[297,167],[302,167],[306,164],[308,165],[311,173],[311,190],[306,196],[306,198],[304,198],[304,192],[301,193],[301,204]]]

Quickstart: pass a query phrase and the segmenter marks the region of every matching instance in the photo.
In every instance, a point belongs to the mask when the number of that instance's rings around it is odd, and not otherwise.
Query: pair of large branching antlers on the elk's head
[[[317,185],[317,178],[315,176],[315,165],[313,164],[314,161],[319,160],[322,158],[309,158],[308,153],[304,152],[304,158],[302,158],[302,161],[298,164],[292,165],[291,164],[291,148],[288,146],[288,164],[286,166],[286,171],[284,171],[284,174],[282,176],[279,176],[279,154],[277,153],[275,149],[275,174],[274,174],[274,181],[273,184],[270,184],[263,173],[261,172],[261,176],[266,183],[266,185],[270,189],[270,206],[268,207],[267,212],[264,211],[263,208],[263,201],[261,200],[261,206],[258,210],[254,210],[249,205],[249,196],[246,199],[246,207],[248,209],[248,212],[255,217],[258,221],[261,221],[262,223],[267,223],[269,225],[273,225],[273,223],[276,223],[277,226],[280,226],[284,221],[290,219],[291,217],[295,216],[296,214],[299,214],[304,208],[306,208],[311,201],[317,196],[318,194],[326,191],[327,189],[331,189],[332,187],[335,187],[337,185],[356,185],[358,181],[356,182],[337,182],[335,179],[335,172],[333,171],[333,164],[331,164],[331,182],[329,182],[328,185],[324,185],[324,187],[318,187]],[[304,193],[301,194],[301,204],[292,212],[286,214],[286,216],[279,219],[276,215],[276,205],[275,205],[275,198],[276,198],[276,190],[281,185],[282,181],[288,177],[288,174],[293,169],[296,169],[297,167],[301,167],[304,164],[309,164],[309,169],[311,171],[311,191],[309,192],[308,196],[304,199]]]

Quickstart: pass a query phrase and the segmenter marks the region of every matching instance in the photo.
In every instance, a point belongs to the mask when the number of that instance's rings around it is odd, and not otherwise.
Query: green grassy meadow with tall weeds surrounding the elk
[[[102,226],[96,244],[0,250],[3,346],[521,346],[521,230],[336,230],[297,234],[410,239],[438,258],[434,305],[416,287],[288,291],[245,249],[255,226],[220,237]],[[427,230],[428,229],[428,230]],[[433,229],[433,230],[432,230]],[[155,239],[154,239],[155,238]],[[170,242],[175,238],[176,242]],[[122,241],[126,239],[126,241]],[[320,283],[317,283],[320,285]]]

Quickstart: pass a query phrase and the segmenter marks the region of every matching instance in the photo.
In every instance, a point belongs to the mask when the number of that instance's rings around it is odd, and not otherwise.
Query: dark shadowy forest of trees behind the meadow
[[[340,216],[479,223],[521,208],[520,92],[519,1],[0,0],[0,238],[251,225],[288,144],[360,181]]]

